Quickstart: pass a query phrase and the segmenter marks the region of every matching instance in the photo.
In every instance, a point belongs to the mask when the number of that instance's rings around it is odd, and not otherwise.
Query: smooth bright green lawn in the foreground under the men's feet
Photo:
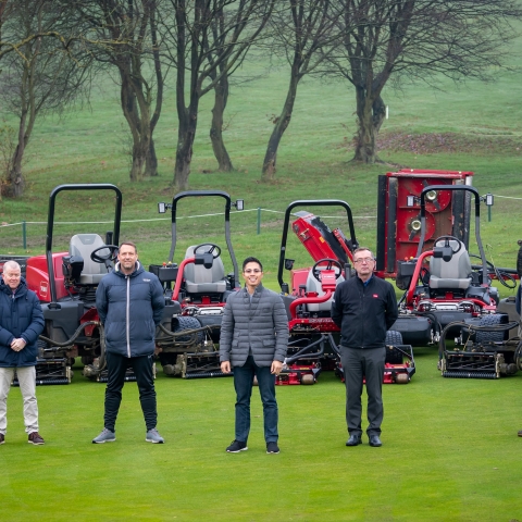
[[[513,521],[522,519],[521,376],[445,380],[433,349],[408,385],[384,386],[383,447],[345,447],[344,385],[279,386],[279,455],[266,455],[254,389],[246,452],[234,438],[231,378],[159,374],[164,445],[145,443],[137,387],[124,387],[117,440],[102,428],[104,386],[79,372],[38,388],[41,433],[29,446],[20,390],[1,447],[2,520]],[[520,421],[520,422],[518,422]]]

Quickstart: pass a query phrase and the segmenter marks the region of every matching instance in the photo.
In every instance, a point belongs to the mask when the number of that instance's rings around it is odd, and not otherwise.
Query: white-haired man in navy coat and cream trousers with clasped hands
[[[44,332],[44,313],[36,294],[25,284],[20,264],[7,261],[0,282],[0,444],[5,442],[7,402],[14,370],[24,399],[28,443],[40,445],[36,401],[38,336]]]

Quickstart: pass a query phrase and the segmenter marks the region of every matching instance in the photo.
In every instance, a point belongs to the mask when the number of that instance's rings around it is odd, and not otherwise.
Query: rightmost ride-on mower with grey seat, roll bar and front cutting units
[[[423,251],[426,194],[443,188],[474,196],[475,240],[481,264],[471,263],[463,241],[453,236],[440,236],[432,249]],[[496,378],[517,372],[514,353],[519,339],[508,340],[509,330],[515,325],[509,323],[508,314],[497,311],[498,290],[492,286],[480,234],[481,199],[475,188],[464,185],[435,185],[422,190],[417,256],[397,263],[397,287],[406,290],[400,311],[431,321],[433,337],[439,346],[438,365],[445,377]],[[508,273],[499,277],[515,284]],[[447,338],[453,339],[455,349],[448,349]]]

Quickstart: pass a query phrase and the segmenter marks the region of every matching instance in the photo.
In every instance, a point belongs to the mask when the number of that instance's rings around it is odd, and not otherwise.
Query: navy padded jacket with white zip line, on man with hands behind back
[[[96,290],[96,308],[105,330],[105,350],[124,357],[154,352],[156,326],[161,322],[165,298],[154,274],[137,269],[125,275],[116,270],[105,275]]]

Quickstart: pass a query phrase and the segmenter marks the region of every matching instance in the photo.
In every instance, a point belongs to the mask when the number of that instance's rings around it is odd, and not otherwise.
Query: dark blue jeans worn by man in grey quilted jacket
[[[259,393],[263,402],[264,439],[276,443],[277,402],[275,401],[275,375],[270,366],[258,366],[249,356],[243,366],[234,366],[234,387],[236,388],[236,440],[246,443],[250,433],[250,397],[253,376],[258,377]]]

